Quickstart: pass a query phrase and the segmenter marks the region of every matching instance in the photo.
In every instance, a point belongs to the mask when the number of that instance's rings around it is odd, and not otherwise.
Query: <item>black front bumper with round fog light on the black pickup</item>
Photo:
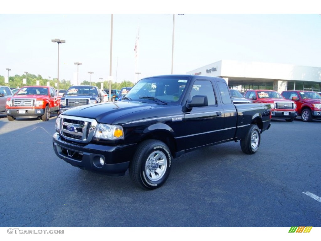
[[[84,170],[110,176],[124,175],[136,151],[137,144],[103,146],[88,143],[85,146],[70,143],[55,133],[53,148],[56,155],[65,162]],[[101,165],[100,158],[104,163]]]

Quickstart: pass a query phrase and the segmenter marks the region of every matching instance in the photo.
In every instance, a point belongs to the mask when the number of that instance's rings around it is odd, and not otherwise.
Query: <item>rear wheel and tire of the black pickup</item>
[[[241,139],[241,149],[245,154],[257,152],[261,141],[260,129],[257,125],[251,125],[244,139]]]

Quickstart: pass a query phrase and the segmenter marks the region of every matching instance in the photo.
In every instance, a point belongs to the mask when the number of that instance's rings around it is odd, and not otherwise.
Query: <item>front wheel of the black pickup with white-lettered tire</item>
[[[145,140],[138,146],[130,162],[130,177],[140,188],[158,188],[169,176],[171,161],[172,156],[165,143],[159,140]]]

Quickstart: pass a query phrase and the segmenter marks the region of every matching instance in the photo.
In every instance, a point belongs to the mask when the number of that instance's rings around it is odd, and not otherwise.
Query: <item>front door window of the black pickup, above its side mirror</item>
[[[196,80],[190,93],[190,99],[195,95],[206,95],[208,105],[216,105],[213,85],[208,80]]]

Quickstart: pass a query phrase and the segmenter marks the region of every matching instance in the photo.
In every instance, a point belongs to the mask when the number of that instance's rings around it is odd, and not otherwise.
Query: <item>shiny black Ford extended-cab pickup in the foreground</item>
[[[156,86],[156,88],[155,88]],[[71,165],[107,175],[129,174],[155,189],[171,162],[199,147],[240,140],[246,154],[270,127],[270,104],[233,104],[224,79],[166,75],[141,79],[121,102],[86,105],[56,119],[53,148]]]

